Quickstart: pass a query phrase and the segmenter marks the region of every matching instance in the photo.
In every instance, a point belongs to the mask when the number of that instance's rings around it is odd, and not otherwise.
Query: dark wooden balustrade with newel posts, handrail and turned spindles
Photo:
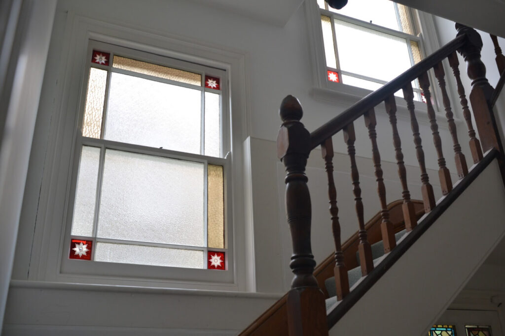
[[[349,293],[347,268],[342,253],[341,231],[338,217],[339,210],[337,206],[337,188],[333,177],[334,153],[332,137],[337,132],[342,131],[343,133],[344,142],[347,146],[347,153],[350,159],[350,177],[359,228],[359,259],[362,275],[368,275],[369,277],[372,277],[373,274],[383,274],[384,270],[374,269],[371,246],[368,241],[367,231],[365,230],[360,175],[356,163],[356,133],[354,128],[354,121],[356,119],[361,116],[364,117],[365,126],[368,129],[368,136],[372,145],[372,161],[377,182],[377,193],[381,206],[381,234],[385,252],[391,251],[396,246],[396,240],[394,237],[393,225],[389,219],[388,205],[386,202],[386,187],[377,144],[376,106],[384,103],[391,125],[392,144],[398,167],[398,177],[402,188],[402,212],[405,220],[405,227],[408,231],[412,231],[416,228],[418,214],[411,200],[411,192],[407,184],[407,170],[403,162],[401,139],[396,119],[397,107],[393,95],[395,92],[401,89],[403,99],[405,99],[407,103],[416,156],[421,171],[421,193],[426,213],[435,209],[436,203],[425,163],[425,153],[423,151],[419,123],[416,117],[416,103],[414,102],[412,81],[416,79],[419,81],[420,88],[426,100],[426,111],[433,136],[433,144],[436,150],[437,163],[439,166],[438,175],[443,195],[447,195],[452,190],[452,181],[442,152],[442,139],[439,134],[435,108],[432,103],[430,91],[431,84],[428,76],[428,71],[431,69],[434,71],[435,78],[440,88],[441,97],[439,98],[441,98],[445,110],[448,130],[455,153],[458,176],[461,179],[469,173],[466,158],[462,153],[459,143],[451,102],[446,89],[445,71],[442,65],[443,59],[448,59],[450,68],[456,79],[460,104],[468,127],[468,136],[470,138],[469,145],[474,163],[482,160],[483,150],[487,151],[491,148],[499,150],[498,133],[489,106],[493,88],[485,78],[485,66],[480,59],[482,40],[477,32],[469,27],[456,24],[456,28],[458,34],[455,40],[426,57],[424,60],[414,65],[410,70],[384,85],[379,90],[352,105],[343,113],[312,133],[309,133],[300,122],[303,112],[298,100],[293,96],[287,96],[282,101],[280,116],[283,123],[277,138],[277,151],[279,158],[286,167],[286,216],[293,243],[293,255],[291,257],[290,267],[294,274],[294,278],[291,284],[291,290],[286,299],[288,312],[287,323],[290,335],[327,334],[324,295],[318,288],[318,282],[313,275],[315,261],[311,250],[311,200],[307,186],[308,178],[305,174],[307,159],[312,149],[321,146],[322,157],[325,162],[325,170],[328,178],[329,211],[335,243],[335,265],[333,274],[335,276],[337,300],[345,300],[347,297],[349,300],[357,300],[357,298],[363,294],[360,292],[360,294],[355,295],[355,291]],[[493,42],[494,41],[495,38],[493,39]],[[501,55],[501,51],[498,50],[499,47],[497,47],[496,43],[495,48],[496,53],[498,54],[499,51]],[[472,90],[469,99],[475,117],[477,131],[480,136],[480,142],[472,126],[471,112],[460,78],[456,51],[463,55],[467,63],[467,74],[472,80]],[[502,57],[500,57],[500,59],[502,59]],[[500,66],[503,65],[498,64],[498,67]],[[417,231],[414,231],[414,234],[416,232]],[[397,251],[397,249],[394,249],[391,254],[398,254],[395,251]],[[361,290],[366,291],[369,288],[367,286],[371,286],[375,281],[376,279],[368,281],[367,284],[363,286],[360,284],[356,290],[359,290],[361,286]],[[366,282],[366,280],[364,282]],[[352,304],[354,303],[347,302],[343,307],[350,307]],[[348,308],[342,308],[342,306],[339,305],[339,310],[343,311],[344,309]],[[331,326],[334,322],[335,321],[328,321],[328,325]]]

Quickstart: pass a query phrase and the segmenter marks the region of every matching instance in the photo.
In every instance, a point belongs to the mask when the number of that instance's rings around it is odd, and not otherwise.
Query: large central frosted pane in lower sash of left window
[[[204,164],[106,150],[99,238],[204,246]]]

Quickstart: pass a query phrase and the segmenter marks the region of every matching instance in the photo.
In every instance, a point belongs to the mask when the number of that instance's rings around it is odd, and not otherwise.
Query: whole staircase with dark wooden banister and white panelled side
[[[456,24],[456,28],[458,34],[454,40],[312,133],[300,122],[303,111],[298,100],[293,96],[284,98],[279,112],[283,123],[277,138],[277,152],[287,173],[286,212],[293,243],[290,267],[294,278],[291,290],[247,327],[242,335],[391,335],[398,333],[394,329],[402,330],[398,334],[405,334],[405,330],[408,330],[407,334],[420,335],[433,322],[435,315],[459,293],[505,235],[505,207],[502,206],[505,202],[505,164],[492,112],[501,87],[493,89],[485,78],[485,66],[480,60],[482,40],[479,34],[460,24]],[[464,57],[467,73],[472,80],[469,100],[480,140],[473,129],[472,112],[458,69],[457,51]],[[468,126],[467,141],[474,162],[470,168],[461,151],[446,90],[442,66],[444,59],[448,60],[455,77],[459,103]],[[501,51],[497,51],[496,63],[502,75],[500,83],[503,83],[504,59]],[[440,87],[453,142],[453,157],[459,177],[454,184],[442,153],[432,106],[430,90],[433,89],[430,89],[428,76],[431,69]],[[416,79],[426,99],[437,153],[443,194],[438,201],[435,200],[426,171],[423,140],[415,114],[411,83]],[[396,126],[394,93],[399,90],[403,93],[410,114],[421,173],[422,201],[411,199],[407,186],[401,140]],[[384,104],[389,116],[398,176],[403,189],[402,199],[394,206],[386,203],[377,146],[374,108],[379,104]],[[368,128],[381,205],[376,225],[373,225],[373,220],[365,225],[356,165],[354,121],[362,117]],[[354,240],[344,244],[340,238],[332,162],[332,137],[339,132],[343,133],[347,146],[359,229],[350,239]],[[305,169],[310,152],[319,146],[328,177],[335,253],[315,268],[316,262],[311,251],[311,200]],[[393,209],[401,209],[402,228],[399,228],[397,220],[393,220]],[[380,231],[380,238],[373,237],[372,227],[376,232]],[[400,231],[403,227],[405,230]],[[416,263],[411,260],[416,260]],[[385,325],[390,328],[384,328]]]

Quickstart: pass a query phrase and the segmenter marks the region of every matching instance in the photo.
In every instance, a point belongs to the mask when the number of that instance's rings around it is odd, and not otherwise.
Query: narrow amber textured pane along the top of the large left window
[[[112,66],[113,68],[129,70],[144,75],[201,86],[201,75],[174,68],[168,68],[167,66],[142,62],[120,56],[114,56]]]

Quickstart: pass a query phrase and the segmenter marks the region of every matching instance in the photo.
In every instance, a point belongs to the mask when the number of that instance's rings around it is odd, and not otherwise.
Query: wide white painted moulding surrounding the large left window
[[[65,69],[65,74],[60,78],[59,86],[56,92],[56,102],[61,102],[57,108],[54,106],[41,106],[41,110],[47,111],[54,108],[57,112],[52,116],[53,122],[49,131],[49,140],[47,145],[47,156],[42,176],[42,185],[40,190],[40,203],[38,207],[37,220],[35,225],[35,234],[31,254],[29,277],[30,280],[44,280],[57,282],[85,282],[85,283],[103,283],[103,284],[130,284],[140,286],[155,287],[183,287],[200,289],[220,288],[224,290],[241,290],[245,288],[245,236],[243,226],[243,204],[242,197],[234,197],[233,194],[243,192],[242,188],[242,139],[249,132],[249,102],[247,100],[246,83],[243,78],[245,74],[245,62],[243,53],[228,48],[209,46],[206,42],[186,39],[180,36],[173,36],[157,31],[148,31],[139,27],[128,27],[89,19],[68,13],[66,21],[66,34],[63,42],[63,56],[60,61],[61,68]],[[68,111],[77,111],[79,109],[79,99],[83,99],[82,91],[83,76],[85,73],[86,49],[89,39],[100,40],[108,43],[116,43],[126,47],[140,48],[148,52],[154,52],[162,56],[179,57],[189,61],[203,63],[207,66],[213,66],[218,69],[225,69],[230,74],[230,84],[223,83],[223,90],[233,99],[230,103],[230,110],[233,115],[231,125],[223,129],[229,132],[232,142],[231,149],[234,157],[230,164],[232,171],[232,181],[227,188],[229,189],[229,199],[233,202],[233,208],[229,209],[227,216],[233,223],[229,228],[229,238],[232,238],[233,244],[228,246],[229,252],[236,248],[234,266],[230,267],[229,276],[232,279],[227,283],[215,283],[217,279],[206,282],[205,277],[197,276],[193,281],[182,282],[184,277],[175,276],[175,281],[161,281],[160,279],[150,282],[148,279],[115,279],[114,277],[89,277],[89,276],[71,276],[61,273],[61,265],[54,260],[60,259],[62,253],[62,244],[65,237],[62,234],[62,223],[67,212],[68,203],[65,195],[69,192],[70,174],[69,167],[72,164],[70,159],[73,156],[74,147],[67,145],[69,139],[75,137],[77,125],[76,115]],[[136,42],[134,42],[136,41]],[[52,60],[56,61],[56,60]],[[46,74],[46,77],[54,78],[56,75]],[[52,82],[52,80],[49,80]],[[57,103],[58,104],[58,103]],[[39,139],[38,141],[45,141]],[[237,164],[239,163],[239,164]],[[45,223],[54,223],[46,225]],[[27,237],[25,237],[27,238]],[[29,239],[29,238],[28,238]],[[235,268],[235,269],[234,269]],[[182,270],[185,271],[185,270]],[[194,270],[190,270],[194,271]],[[201,270],[200,270],[201,271]],[[212,272],[212,271],[211,271]],[[214,271],[216,272],[216,271]],[[179,274],[179,271],[174,271]],[[182,272],[184,273],[184,272]],[[223,272],[224,275],[228,272]],[[142,273],[146,274],[145,272]],[[229,277],[226,276],[226,277]],[[170,276],[168,277],[170,278]],[[211,278],[215,278],[214,275]],[[219,277],[218,277],[219,278]],[[163,284],[164,282],[164,284]]]

